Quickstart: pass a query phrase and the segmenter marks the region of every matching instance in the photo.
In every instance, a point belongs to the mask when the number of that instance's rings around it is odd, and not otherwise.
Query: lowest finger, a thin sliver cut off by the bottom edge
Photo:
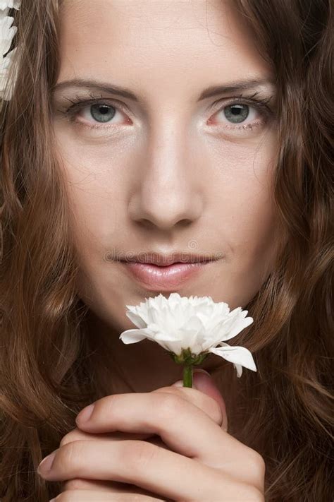
[[[166,498],[156,498],[149,495],[135,495],[132,493],[112,494],[93,490],[66,491],[53,498],[50,502],[154,502],[165,501]]]

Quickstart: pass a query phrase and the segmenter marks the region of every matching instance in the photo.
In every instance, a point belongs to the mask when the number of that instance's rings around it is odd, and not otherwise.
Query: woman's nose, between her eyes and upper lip
[[[202,180],[194,176],[194,150],[187,148],[184,130],[177,131],[171,122],[163,133],[147,140],[129,202],[132,221],[165,231],[190,225],[203,208]]]

